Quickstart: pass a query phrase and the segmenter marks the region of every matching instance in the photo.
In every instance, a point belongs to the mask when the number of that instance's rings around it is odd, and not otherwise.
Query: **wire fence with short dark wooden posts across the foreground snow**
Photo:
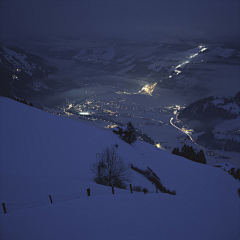
[[[104,190],[92,189],[90,192],[90,188],[88,188],[79,193],[75,193],[75,194],[71,194],[71,195],[67,195],[67,196],[49,195],[48,197],[45,197],[41,200],[38,200],[35,202],[30,202],[30,203],[24,203],[24,204],[2,203],[2,208],[3,208],[3,213],[7,213],[12,210],[33,208],[33,207],[38,207],[38,206],[47,205],[47,204],[51,204],[51,203],[57,203],[57,202],[61,202],[61,201],[69,201],[69,200],[81,198],[81,197],[88,197],[90,195],[91,196],[101,196],[101,195],[111,195],[111,194],[122,195],[122,194],[133,193],[131,184],[130,184],[130,191],[123,190],[123,189],[117,189],[117,191],[115,191],[115,190],[116,189],[114,187],[109,187],[108,189],[104,189]]]

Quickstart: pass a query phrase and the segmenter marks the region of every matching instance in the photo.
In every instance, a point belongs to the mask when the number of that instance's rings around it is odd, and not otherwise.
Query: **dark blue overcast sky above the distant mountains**
[[[239,0],[1,0],[1,38],[140,41],[240,36]]]

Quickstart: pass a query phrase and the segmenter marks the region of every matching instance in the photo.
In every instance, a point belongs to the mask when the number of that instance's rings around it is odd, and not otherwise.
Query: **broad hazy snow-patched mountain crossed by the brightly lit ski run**
[[[82,39],[75,45],[49,44],[41,56],[61,69],[60,78],[74,79],[82,87],[96,84],[132,94],[154,84],[154,95],[171,89],[169,101],[176,105],[210,95],[230,96],[239,88],[239,49],[230,45]]]

